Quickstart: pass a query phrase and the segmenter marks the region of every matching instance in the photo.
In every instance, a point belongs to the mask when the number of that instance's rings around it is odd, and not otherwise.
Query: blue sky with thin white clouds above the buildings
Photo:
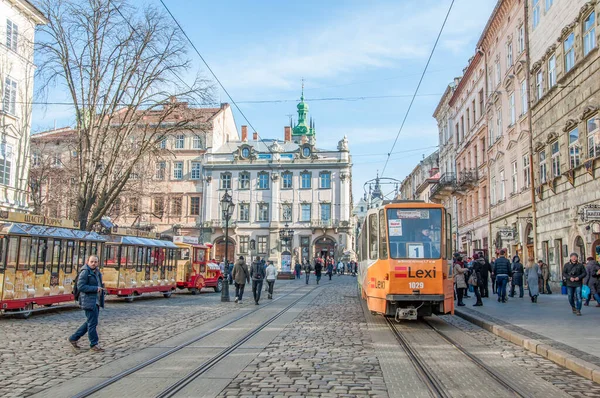
[[[158,0],[148,0],[162,7]],[[196,47],[263,138],[283,138],[296,112],[301,80],[317,145],[335,148],[348,136],[355,202],[385,163],[450,0],[165,0]],[[387,166],[402,180],[435,150],[433,111],[460,76],[496,0],[456,0],[428,73]],[[190,51],[195,70],[208,77]],[[50,99],[66,97],[56,89]],[[229,102],[219,90],[218,100]],[[364,100],[319,100],[397,96]],[[290,100],[243,103],[256,100]],[[69,125],[67,107],[36,107],[33,132]],[[238,130],[246,121],[234,112]]]

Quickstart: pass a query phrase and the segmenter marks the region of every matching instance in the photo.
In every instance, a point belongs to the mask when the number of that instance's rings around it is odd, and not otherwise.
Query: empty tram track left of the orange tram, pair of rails
[[[111,376],[111,377],[107,378],[106,380],[104,380],[103,382],[98,383],[90,388],[87,388],[87,389],[73,395],[72,397],[73,398],[90,397],[90,396],[104,390],[105,388],[109,387],[110,385],[117,383],[121,380],[124,380],[126,377],[128,377],[136,372],[139,372],[140,370],[145,369],[145,368],[177,353],[178,351],[181,351],[182,349],[184,349],[186,347],[189,347],[189,346],[197,343],[197,342],[223,330],[224,328],[231,326],[234,323],[239,322],[240,320],[242,320],[246,317],[249,317],[252,314],[257,313],[258,311],[263,310],[264,308],[268,308],[269,306],[274,305],[276,302],[296,293],[298,290],[300,290],[302,288],[303,287],[296,288],[291,292],[288,292],[288,293],[285,293],[285,294],[279,296],[278,298],[274,299],[273,301],[271,301],[268,304],[261,306],[260,308],[256,308],[254,310],[251,310],[249,312],[241,314],[241,315],[225,322],[224,324],[215,326],[214,328],[200,334],[199,336],[197,336],[193,339],[190,339],[190,340],[188,340],[182,344],[179,344],[161,354],[158,354],[142,363],[139,363],[136,366],[133,366],[133,367],[126,369],[114,376]],[[235,351],[237,348],[239,348],[245,342],[250,340],[252,337],[256,336],[258,333],[260,333],[266,327],[268,327],[271,323],[273,323],[275,320],[277,320],[279,317],[281,317],[283,314],[285,314],[287,311],[289,311],[291,308],[293,308],[296,304],[298,304],[301,300],[306,298],[309,294],[311,294],[317,288],[318,287],[310,289],[308,292],[304,293],[302,296],[300,296],[299,298],[292,301],[289,305],[287,305],[282,310],[278,311],[275,315],[271,316],[269,319],[267,319],[266,321],[262,322],[261,324],[259,324],[258,326],[256,326],[255,328],[253,328],[252,330],[247,332],[243,337],[236,340],[236,342],[227,346],[225,349],[221,350],[218,354],[214,355],[213,357],[209,358],[208,360],[204,361],[202,364],[200,364],[198,367],[194,368],[190,373],[188,373],[183,378],[179,379],[177,382],[171,384],[169,387],[167,387],[165,390],[163,390],[160,394],[158,394],[157,397],[166,398],[166,397],[172,397],[175,394],[177,394],[179,391],[181,391],[187,385],[192,383],[194,380],[196,380],[202,374],[206,373],[208,370],[210,370],[215,365],[217,365],[219,362],[221,362],[224,358],[226,358],[229,354],[231,354],[233,351]]]

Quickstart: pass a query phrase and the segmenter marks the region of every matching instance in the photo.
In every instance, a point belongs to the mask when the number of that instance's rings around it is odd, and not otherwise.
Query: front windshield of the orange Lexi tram
[[[390,257],[440,258],[441,209],[388,209]]]

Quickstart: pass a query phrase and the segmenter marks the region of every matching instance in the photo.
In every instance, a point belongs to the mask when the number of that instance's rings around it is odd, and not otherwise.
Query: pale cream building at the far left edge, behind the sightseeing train
[[[0,210],[29,211],[29,135],[35,28],[47,23],[29,1],[0,0]]]

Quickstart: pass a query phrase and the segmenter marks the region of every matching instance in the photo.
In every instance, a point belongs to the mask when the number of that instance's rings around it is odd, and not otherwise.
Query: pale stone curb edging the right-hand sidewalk
[[[487,330],[490,333],[495,334],[498,337],[502,337],[503,339],[521,346],[528,351],[538,354],[556,363],[557,365],[567,368],[578,375],[585,377],[586,379],[592,380],[595,383],[600,383],[600,366],[579,359],[574,355],[568,354],[562,350],[558,350],[542,343],[539,340],[535,340],[520,333],[513,332],[510,329],[499,326],[476,315],[467,314],[459,309],[455,309],[454,314],[479,326],[482,329]]]

